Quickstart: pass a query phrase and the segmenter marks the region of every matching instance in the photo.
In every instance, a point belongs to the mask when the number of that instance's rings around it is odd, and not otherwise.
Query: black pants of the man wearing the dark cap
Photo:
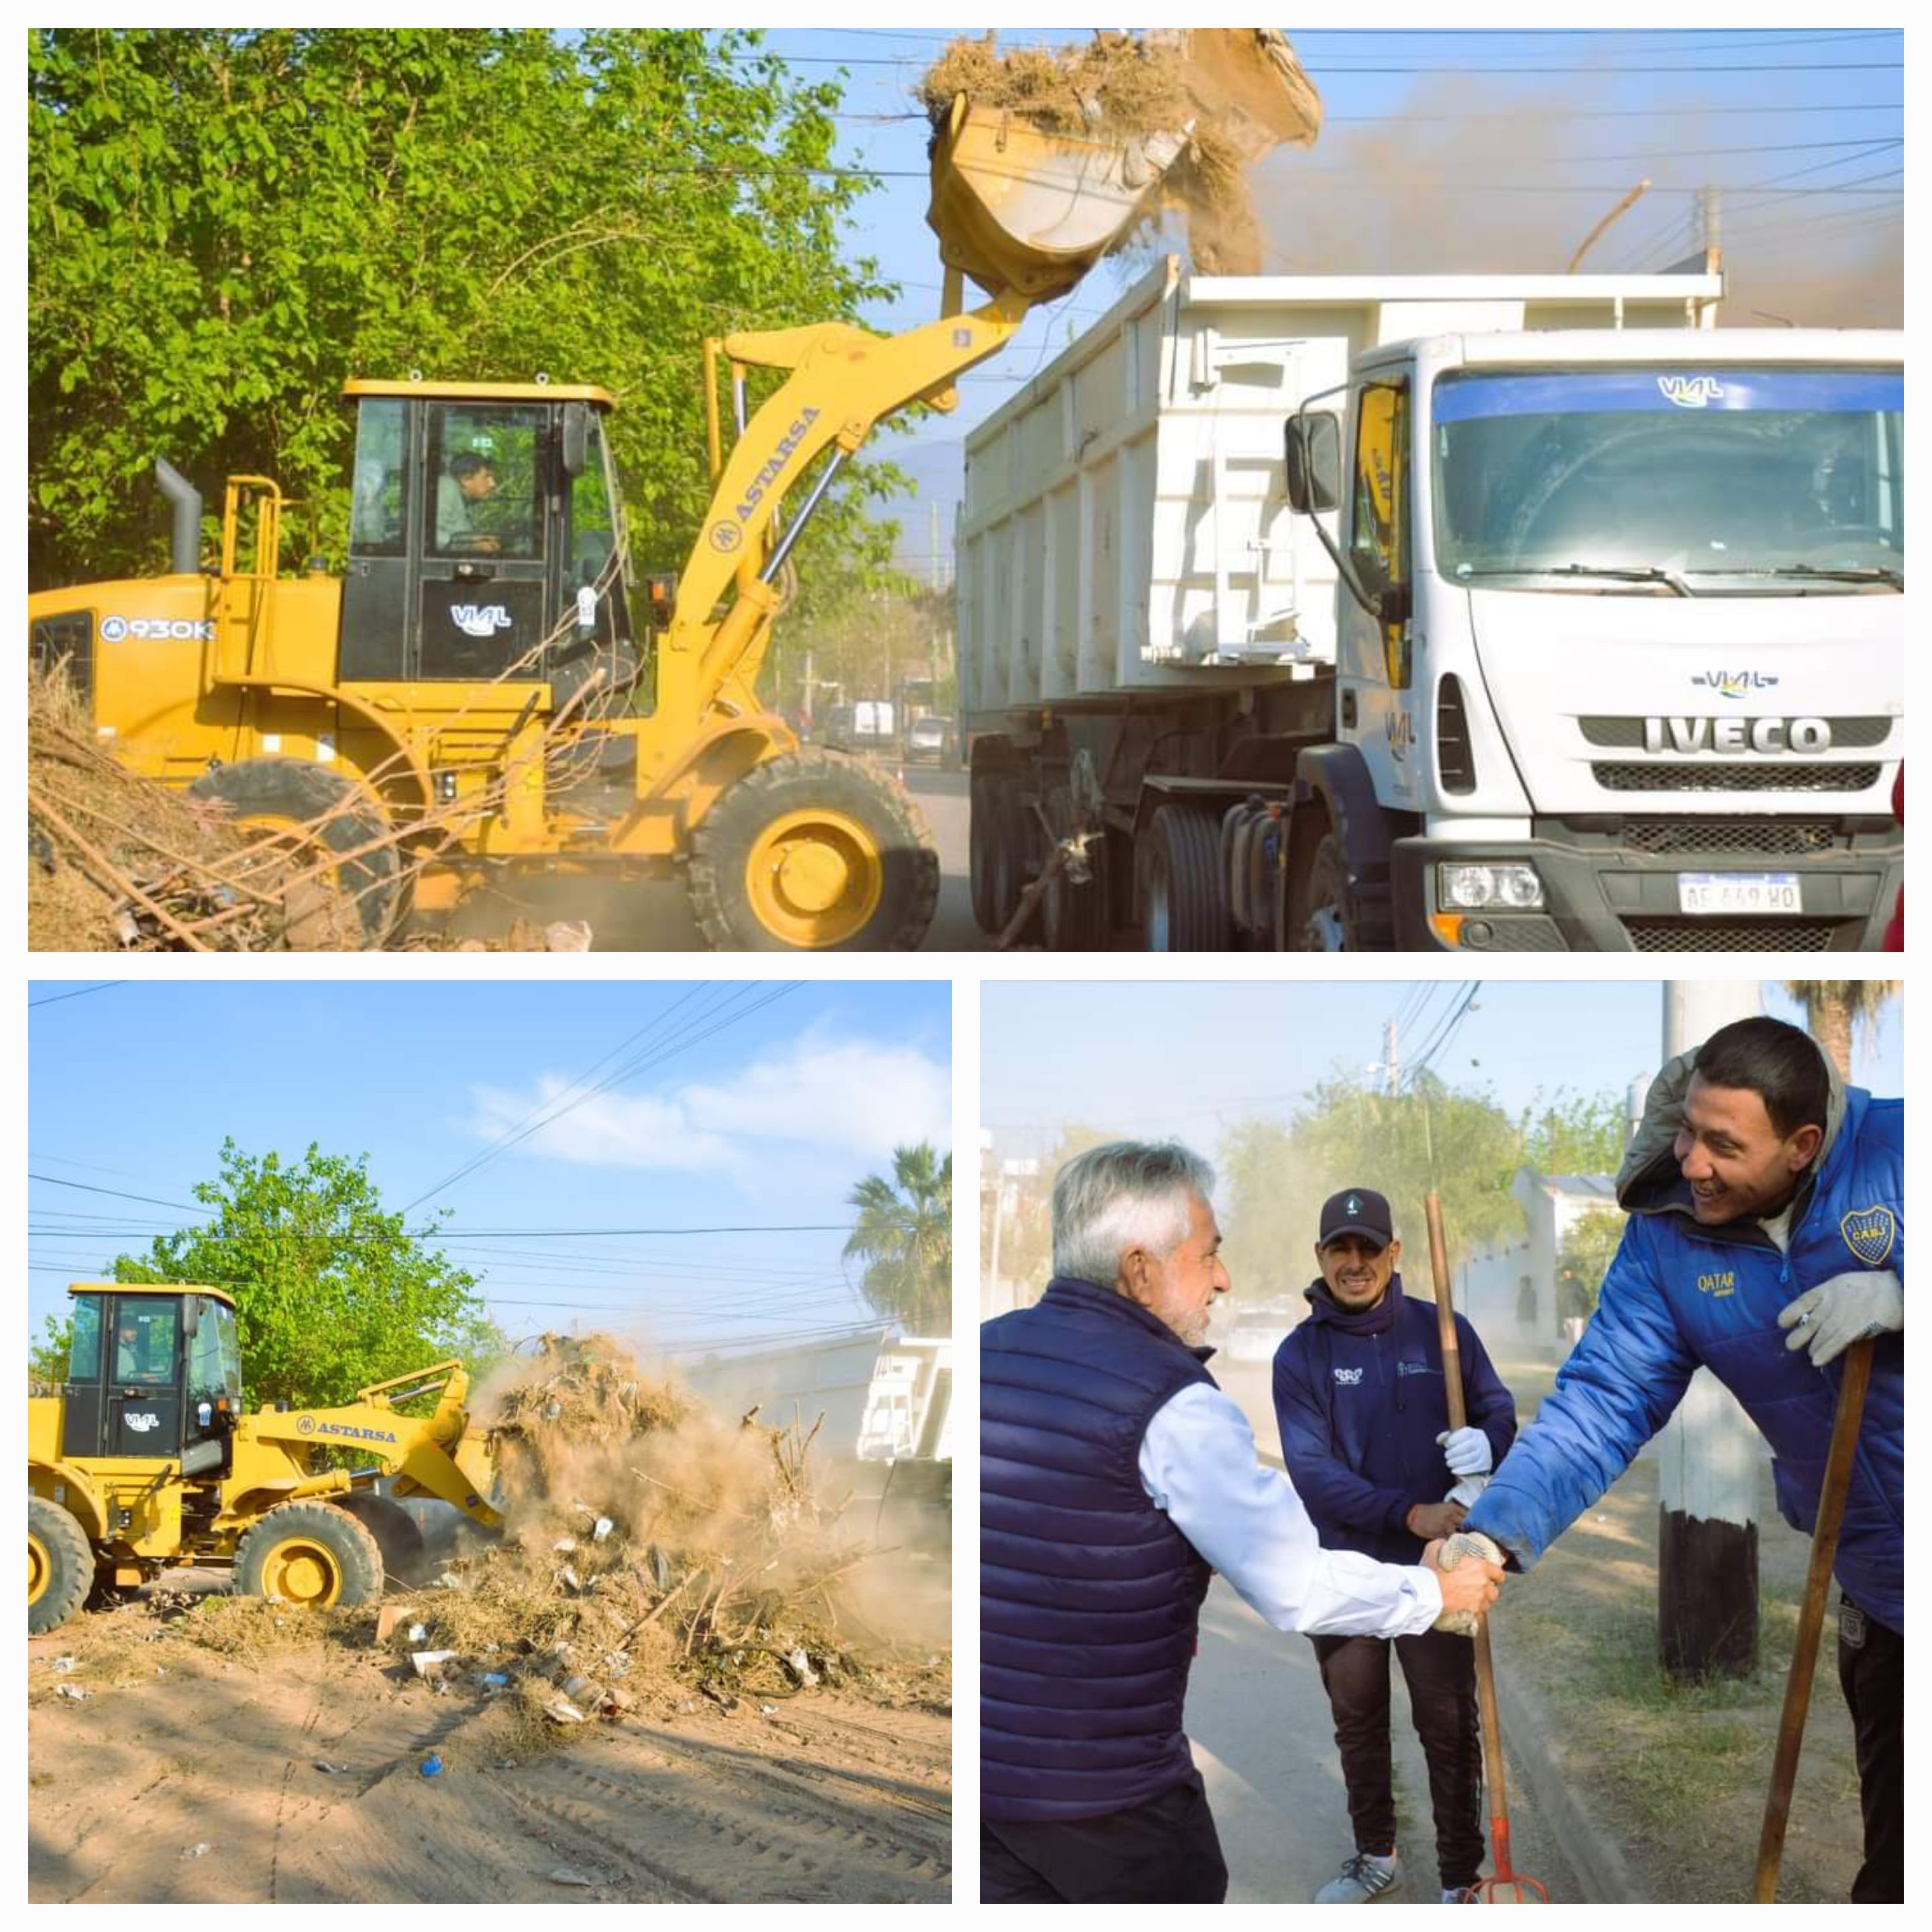
[[[1387,1636],[1312,1636],[1335,1712],[1335,1745],[1349,1787],[1354,1849],[1395,1851],[1395,1772],[1389,1762]],[[1449,1631],[1393,1638],[1408,1683],[1416,1737],[1430,1766],[1435,1864],[1443,1888],[1472,1886],[1482,1870],[1482,1721],[1476,1646]]]

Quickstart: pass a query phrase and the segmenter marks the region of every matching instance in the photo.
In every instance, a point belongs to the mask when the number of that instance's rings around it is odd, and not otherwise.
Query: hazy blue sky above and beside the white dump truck
[[[846,70],[840,162],[885,176],[858,209],[852,253],[904,284],[867,321],[937,313],[925,228],[927,128],[912,87],[958,29],[775,29],[767,43],[813,79]],[[981,29],[968,29],[980,33]],[[1001,29],[1003,44],[1086,29]],[[1764,317],[1897,327],[1903,303],[1903,37],[1888,29],[1368,31],[1291,27],[1327,122],[1312,151],[1256,176],[1269,272],[1559,272],[1621,195],[1650,189],[1588,259],[1662,269],[1690,253],[1692,203],[1723,189],[1731,274],[1725,327]],[[902,506],[900,562],[931,560],[929,502],[951,558],[962,433],[1049,354],[1105,313],[1138,265],[1101,265],[968,375],[952,417],[881,439],[920,483]]]

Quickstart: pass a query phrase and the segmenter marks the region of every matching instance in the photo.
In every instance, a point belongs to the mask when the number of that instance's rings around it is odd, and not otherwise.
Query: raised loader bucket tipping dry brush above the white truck
[[[925,220],[939,236],[939,259],[989,296],[1065,296],[1153,205],[1186,135],[1186,128],[1132,139],[1041,133],[960,95],[933,141]]]

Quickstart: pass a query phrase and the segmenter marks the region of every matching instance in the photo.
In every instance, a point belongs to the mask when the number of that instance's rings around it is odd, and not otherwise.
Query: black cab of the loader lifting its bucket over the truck
[[[350,383],[355,468],[344,684],[549,682],[636,645],[607,390],[553,383]]]

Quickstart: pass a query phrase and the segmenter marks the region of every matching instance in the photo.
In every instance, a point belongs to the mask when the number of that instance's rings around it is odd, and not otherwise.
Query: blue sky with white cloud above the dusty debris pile
[[[48,1001],[93,981],[39,981]],[[369,1155],[386,1208],[431,1194],[628,1037],[587,1099],[471,1179],[452,1260],[512,1335],[663,1347],[852,1325],[842,1233],[491,1238],[508,1229],[848,1225],[895,1142],[951,1142],[945,981],[129,981],[29,1010],[29,1329],[118,1252],[193,1217],[224,1136]],[[709,1037],[699,1037],[709,1036]],[[66,1184],[60,1184],[66,1182]],[[75,1182],[79,1186],[75,1186]],[[545,1306],[547,1304],[547,1306]]]

